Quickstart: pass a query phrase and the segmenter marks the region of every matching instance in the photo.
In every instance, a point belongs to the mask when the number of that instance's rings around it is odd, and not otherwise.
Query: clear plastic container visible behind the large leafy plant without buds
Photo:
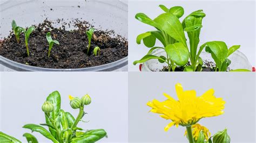
[[[157,50],[157,51],[153,51],[152,55],[156,55],[156,56],[166,56],[166,52],[163,50]],[[212,61],[214,62],[214,60],[212,59],[211,54],[206,53],[206,52],[201,52],[200,57],[205,61]],[[235,51],[233,54],[231,54],[230,56],[228,56],[228,59],[231,60],[231,64],[230,69],[248,69],[248,70],[252,70],[252,66],[250,64],[250,62],[248,61],[248,59],[246,58],[246,56],[240,52],[240,51]],[[158,60],[156,59],[151,59],[149,61],[146,61],[143,63],[142,65],[142,71],[159,71],[161,69],[163,69],[164,66],[167,66],[167,63],[160,63]]]

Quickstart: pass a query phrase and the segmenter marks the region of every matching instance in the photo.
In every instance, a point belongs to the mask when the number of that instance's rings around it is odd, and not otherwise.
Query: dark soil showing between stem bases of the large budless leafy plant
[[[190,62],[187,63],[186,66],[190,66]],[[185,66],[182,67],[176,67],[175,71],[183,71],[185,68]],[[216,65],[214,62],[211,61],[204,61],[204,64],[202,66],[202,71],[215,71]],[[230,68],[227,69],[227,71],[231,70]],[[164,66],[163,69],[161,69],[160,71],[168,71],[168,67]],[[172,71],[172,69],[171,69]]]

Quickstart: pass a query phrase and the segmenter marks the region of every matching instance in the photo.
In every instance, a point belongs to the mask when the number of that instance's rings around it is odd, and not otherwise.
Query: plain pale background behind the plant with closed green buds
[[[22,126],[45,123],[41,106],[52,91],[58,90],[61,108],[74,117],[79,110],[71,108],[68,95],[91,96],[92,103],[85,106],[88,114],[83,118],[89,123],[79,122],[79,127],[104,128],[108,138],[100,140],[103,142],[127,142],[127,73],[6,72],[1,76],[0,131],[25,142],[22,135],[31,131]],[[39,142],[51,142],[39,133],[32,134]]]

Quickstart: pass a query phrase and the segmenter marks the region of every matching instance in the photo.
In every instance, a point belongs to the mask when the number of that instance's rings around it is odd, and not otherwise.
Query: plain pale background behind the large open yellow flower
[[[164,127],[171,122],[149,112],[147,102],[166,100],[166,94],[177,99],[176,83],[184,90],[196,90],[197,96],[213,88],[216,97],[224,99],[224,114],[203,118],[212,135],[224,130],[231,142],[255,142],[255,74],[254,73],[129,73],[129,142],[187,142],[185,127]]]

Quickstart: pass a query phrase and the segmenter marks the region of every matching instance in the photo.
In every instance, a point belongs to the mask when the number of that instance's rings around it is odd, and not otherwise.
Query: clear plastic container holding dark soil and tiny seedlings
[[[98,29],[113,30],[122,37],[128,37],[127,32],[127,10],[126,3],[121,1],[96,1],[96,0],[9,0],[0,4],[1,26],[0,39],[7,37],[11,31],[11,22],[16,20],[22,27],[37,25],[46,18],[52,22],[64,19],[69,23],[73,19],[86,20]],[[53,26],[59,27],[56,24]],[[73,27],[66,26],[66,30]],[[79,68],[79,69],[50,69],[24,65],[0,56],[1,71],[127,71],[128,58],[105,65]]]

